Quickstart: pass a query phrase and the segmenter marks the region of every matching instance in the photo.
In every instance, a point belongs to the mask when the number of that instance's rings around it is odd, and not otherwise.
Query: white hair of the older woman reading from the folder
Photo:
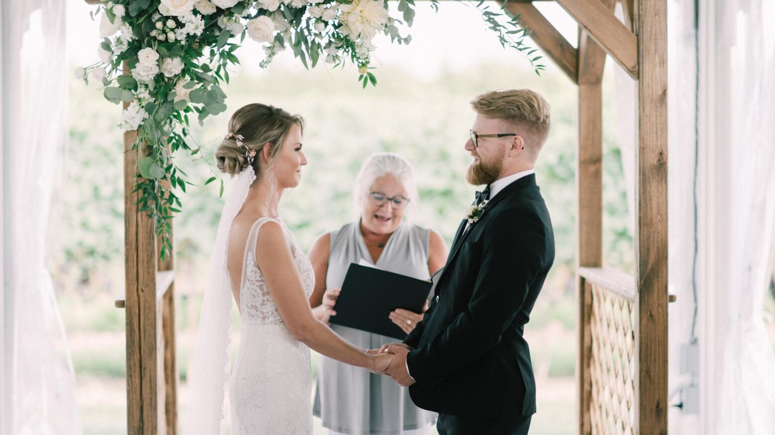
[[[363,166],[360,166],[358,176],[355,178],[353,203],[359,215],[360,201],[365,200],[371,185],[374,184],[377,178],[388,174],[396,177],[401,182],[409,197],[409,204],[404,209],[404,219],[408,220],[415,214],[419,205],[420,195],[417,193],[415,170],[412,169],[412,163],[392,152],[378,152],[367,157],[366,161],[363,162]]]

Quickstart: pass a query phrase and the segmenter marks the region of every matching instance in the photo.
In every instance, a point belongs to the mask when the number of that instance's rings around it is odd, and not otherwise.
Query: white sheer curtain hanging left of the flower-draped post
[[[67,140],[65,0],[2,2],[2,433],[81,433],[74,375],[45,269]]]

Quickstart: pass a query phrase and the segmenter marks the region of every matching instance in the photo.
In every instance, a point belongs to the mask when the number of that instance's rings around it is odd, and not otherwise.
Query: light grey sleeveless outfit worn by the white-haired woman
[[[429,279],[429,232],[428,228],[402,223],[387,240],[375,265],[417,279]],[[346,224],[330,235],[329,269],[325,274],[327,289],[342,286],[350,263],[361,259],[373,263],[360,232],[360,223]],[[336,324],[331,327],[346,341],[364,349],[380,348],[382,344],[397,341]],[[436,413],[415,406],[408,389],[396,384],[390,376],[374,375],[323,355],[318,358],[318,383],[312,413],[322,418],[324,427],[353,435],[395,435],[401,430],[418,429],[436,421]]]

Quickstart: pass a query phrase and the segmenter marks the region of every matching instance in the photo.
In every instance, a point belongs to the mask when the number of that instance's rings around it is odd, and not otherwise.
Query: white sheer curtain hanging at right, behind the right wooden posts
[[[671,409],[670,430],[771,435],[763,301],[775,247],[775,0],[668,7],[671,403],[691,405],[691,386],[699,397],[698,413]],[[621,71],[616,83],[632,193],[636,83]],[[680,348],[695,338],[699,370],[687,373]]]

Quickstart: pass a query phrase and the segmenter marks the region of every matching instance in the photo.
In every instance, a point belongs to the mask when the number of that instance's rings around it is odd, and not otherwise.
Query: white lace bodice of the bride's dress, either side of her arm
[[[290,236],[288,236],[290,238]],[[307,297],[312,296],[312,290],[315,289],[315,272],[312,270],[312,263],[301,251],[301,248],[291,238],[291,255],[296,262],[301,284]],[[242,289],[239,290],[240,300],[242,300],[243,322],[248,324],[284,324],[280,311],[272,300],[269,293],[267,282],[263,279],[263,274],[258,269],[256,256],[253,252],[248,252],[245,259],[245,281]]]

